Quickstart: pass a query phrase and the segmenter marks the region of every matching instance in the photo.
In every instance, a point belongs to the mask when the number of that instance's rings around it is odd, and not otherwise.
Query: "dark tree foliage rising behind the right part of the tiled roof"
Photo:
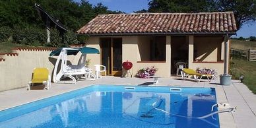
[[[148,12],[152,13],[199,13],[233,11],[238,29],[248,21],[256,20],[255,0],[151,0]]]

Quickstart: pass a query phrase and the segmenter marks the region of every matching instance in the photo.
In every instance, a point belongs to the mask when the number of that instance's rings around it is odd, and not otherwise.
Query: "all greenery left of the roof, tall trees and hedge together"
[[[38,32],[46,33],[46,26],[40,15],[36,11],[34,4],[37,3],[46,10],[49,15],[53,16],[61,22],[65,28],[70,30],[67,34],[58,34],[55,29],[52,30],[53,39],[51,46],[61,46],[77,43],[77,40],[71,42],[73,38],[77,38],[72,32],[77,31],[87,22],[92,20],[96,15],[108,13],[123,13],[120,11],[110,11],[108,7],[98,3],[93,6],[86,0],[75,2],[73,0],[6,0],[0,1],[0,28],[6,26],[13,29],[13,37],[16,43],[32,45],[38,40],[41,44],[46,42],[46,36],[42,41],[38,36]],[[3,31],[3,30],[2,30]],[[1,30],[0,30],[1,32]],[[7,34],[3,36],[4,41]],[[10,35],[9,35],[10,36]],[[60,39],[59,37],[63,38]],[[67,42],[65,42],[67,41]],[[48,44],[49,45],[49,44]]]

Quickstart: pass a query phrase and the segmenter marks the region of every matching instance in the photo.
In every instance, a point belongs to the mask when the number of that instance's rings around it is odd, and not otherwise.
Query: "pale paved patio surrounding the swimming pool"
[[[90,86],[91,84],[141,84],[152,85],[153,79],[137,79],[137,78],[119,78],[107,77],[98,80],[83,80],[77,84],[51,84],[50,90],[30,90],[19,88],[0,92],[0,110],[5,110],[13,106],[19,106],[49,96],[55,96],[71,90],[77,90]],[[215,83],[214,83],[215,82]],[[218,81],[213,83],[194,82],[193,80],[180,80],[179,78],[162,78],[156,86],[200,86],[216,88],[217,102],[228,102],[231,106],[237,106],[235,113],[219,113],[221,128],[253,128],[256,126],[256,95],[254,95],[239,80],[232,80],[230,86],[220,86]]]

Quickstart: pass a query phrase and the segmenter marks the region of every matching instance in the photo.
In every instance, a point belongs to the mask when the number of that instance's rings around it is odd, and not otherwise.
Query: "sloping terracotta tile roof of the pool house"
[[[235,34],[233,12],[98,15],[79,34]]]

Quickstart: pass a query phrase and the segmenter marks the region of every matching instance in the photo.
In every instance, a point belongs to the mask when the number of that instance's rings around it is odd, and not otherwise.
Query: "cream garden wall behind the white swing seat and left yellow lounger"
[[[18,53],[16,56],[1,55],[5,61],[0,61],[0,91],[27,86],[36,67],[47,67],[52,77],[57,57],[49,57],[51,51],[48,48],[28,48],[14,50]],[[69,55],[68,62],[77,65],[80,55]]]

